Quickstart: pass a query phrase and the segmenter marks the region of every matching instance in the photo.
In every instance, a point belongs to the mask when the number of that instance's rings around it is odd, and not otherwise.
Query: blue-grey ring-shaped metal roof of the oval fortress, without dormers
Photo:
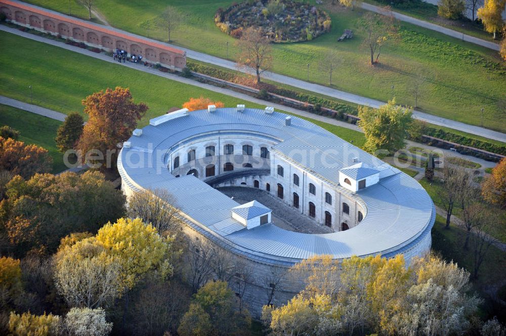
[[[118,169],[123,182],[133,189],[166,189],[175,206],[201,232],[267,260],[297,261],[316,254],[330,254],[336,259],[389,255],[409,249],[420,236],[430,234],[434,204],[417,181],[309,121],[292,116],[291,125],[285,125],[286,116],[258,109],[193,111],[157,126],[146,126],[141,136],[132,136],[130,148],[123,148],[119,155]],[[194,176],[176,178],[165,166],[166,155],[175,146],[203,133],[220,132],[251,132],[281,139],[272,146],[272,152],[307,168],[340,193],[351,195],[366,209],[363,220],[349,230],[327,234],[287,231],[272,224],[252,229],[237,226],[231,218],[237,202]],[[342,187],[339,170],[352,166],[353,159],[379,171],[379,182],[356,193]]]

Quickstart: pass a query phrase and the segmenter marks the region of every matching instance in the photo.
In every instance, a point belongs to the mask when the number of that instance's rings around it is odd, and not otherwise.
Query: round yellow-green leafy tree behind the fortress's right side
[[[395,100],[379,109],[360,106],[358,125],[365,133],[364,150],[374,153],[377,150],[395,152],[405,147],[413,118],[411,109],[395,105]]]

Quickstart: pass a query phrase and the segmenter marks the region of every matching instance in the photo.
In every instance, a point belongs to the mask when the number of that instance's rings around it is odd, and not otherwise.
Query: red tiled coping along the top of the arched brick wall
[[[100,31],[100,32],[108,34],[108,35],[124,38],[124,39],[130,40],[130,41],[135,41],[135,42],[143,43],[143,44],[146,44],[146,45],[150,45],[150,46],[153,46],[153,47],[156,47],[158,49],[162,49],[162,50],[174,53],[174,54],[179,54],[179,55],[182,55],[182,56],[185,55],[185,52],[182,51],[182,50],[179,50],[179,49],[176,49],[176,48],[173,48],[173,47],[161,44],[161,43],[152,42],[152,41],[147,40],[147,39],[142,39],[142,38],[136,37],[136,36],[131,35],[131,34],[120,33],[120,32],[117,32],[117,31],[112,30],[112,29],[108,29],[105,26],[102,26],[102,25],[99,25],[99,24],[96,24],[96,23],[90,23],[90,22],[86,22],[86,21],[83,21],[83,20],[77,20],[77,19],[74,19],[74,18],[72,18],[72,17],[70,17],[68,15],[65,15],[65,14],[55,14],[53,12],[49,12],[49,11],[46,11],[44,9],[39,9],[37,7],[31,6],[31,5],[28,5],[28,4],[14,2],[14,1],[11,1],[11,0],[0,0],[0,4],[9,5],[9,6],[12,6],[12,7],[17,7],[19,9],[23,9],[25,11],[29,11],[29,12],[37,13],[37,14],[40,14],[40,15],[44,15],[44,16],[47,16],[47,17],[50,17],[50,18],[53,18],[53,19],[69,22],[69,23],[72,23],[72,24],[75,24],[75,25],[78,25],[78,26],[86,27],[88,29],[97,30],[97,31]]]

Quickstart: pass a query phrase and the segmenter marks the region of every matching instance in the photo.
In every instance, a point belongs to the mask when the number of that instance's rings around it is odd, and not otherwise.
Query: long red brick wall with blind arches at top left
[[[13,23],[103,50],[122,49],[129,54],[142,55],[143,59],[149,62],[172,69],[182,69],[186,66],[184,51],[114,28],[12,0],[0,0],[0,12]]]

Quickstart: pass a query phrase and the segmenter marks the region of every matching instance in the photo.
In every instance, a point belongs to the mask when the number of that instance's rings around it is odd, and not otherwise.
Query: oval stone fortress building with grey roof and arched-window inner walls
[[[434,204],[410,176],[298,117],[265,110],[209,106],[162,115],[123,143],[118,158],[126,196],[165,189],[188,234],[255,263],[243,300],[254,315],[267,303],[264,280],[305,258],[328,254],[427,253]],[[215,189],[236,185],[266,190],[331,233],[288,231],[271,223],[269,204],[239,204]],[[230,282],[232,287],[234,281]],[[302,289],[287,279],[275,303]]]

